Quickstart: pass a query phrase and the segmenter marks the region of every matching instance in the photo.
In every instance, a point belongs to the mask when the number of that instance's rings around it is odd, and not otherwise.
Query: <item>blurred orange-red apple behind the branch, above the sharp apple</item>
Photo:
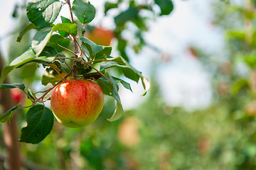
[[[85,37],[95,42],[97,45],[109,46],[114,34],[111,30],[106,30],[102,27],[95,27],[93,30],[86,31]]]

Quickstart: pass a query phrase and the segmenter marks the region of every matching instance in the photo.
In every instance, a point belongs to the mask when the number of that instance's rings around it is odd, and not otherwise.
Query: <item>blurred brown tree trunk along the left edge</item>
[[[0,54],[0,74],[1,70],[4,68],[4,62]],[[8,80],[5,79],[4,83],[8,83]],[[10,108],[14,106],[14,101],[11,98],[10,89],[0,90],[0,104],[3,108],[3,112],[9,111]],[[3,132],[4,132],[4,143],[6,145],[7,152],[7,168],[9,170],[20,170],[21,169],[21,157],[20,157],[20,143],[18,142],[18,128],[16,123],[16,116],[14,115],[11,118],[11,125],[9,123],[3,123]]]

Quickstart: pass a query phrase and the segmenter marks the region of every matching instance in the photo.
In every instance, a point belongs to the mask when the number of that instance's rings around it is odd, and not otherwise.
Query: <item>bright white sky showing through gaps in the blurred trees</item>
[[[4,17],[0,19],[0,49],[4,55],[6,55],[6,44],[8,44],[8,37],[5,37],[13,29],[16,22],[11,17],[16,2],[20,3],[21,1],[1,0],[0,14]],[[92,0],[90,2],[97,9],[97,16],[92,23],[100,23],[105,28],[112,28],[113,20],[111,17],[105,18],[103,21],[101,19],[104,15],[102,4],[105,0]],[[152,76],[156,77],[161,93],[170,106],[183,106],[188,111],[193,111],[204,108],[211,102],[213,92],[210,84],[210,73],[203,69],[201,63],[191,55],[188,48],[193,45],[209,53],[222,50],[223,35],[211,24],[213,18],[212,2],[206,0],[173,0],[174,11],[171,12],[171,15],[162,16],[154,22],[151,21],[148,23],[149,32],[144,33],[146,42],[157,47],[160,52],[145,47],[137,55],[131,49],[127,49],[127,53],[131,57],[131,64],[135,68],[149,79]],[[122,8],[125,7],[122,6]],[[122,10],[122,8],[118,10]],[[116,13],[118,11],[112,11],[110,14],[114,16]],[[68,18],[67,8],[63,8],[60,15]],[[60,18],[56,22],[60,22]],[[116,45],[116,42],[113,42],[112,45]],[[167,62],[166,60],[164,60],[165,62],[159,60],[159,58],[166,58]],[[152,67],[155,67],[154,72],[152,72]],[[134,93],[123,88],[120,88],[119,91],[125,110],[138,106],[147,98],[141,96],[143,94],[142,84],[132,81],[129,83],[131,83]]]

